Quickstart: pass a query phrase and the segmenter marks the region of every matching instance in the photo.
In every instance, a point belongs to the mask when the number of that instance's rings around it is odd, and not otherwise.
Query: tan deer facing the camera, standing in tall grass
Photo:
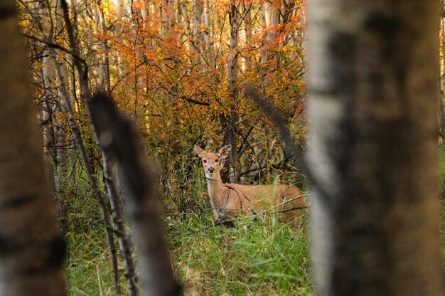
[[[306,208],[305,195],[295,186],[223,183],[220,169],[232,149],[230,145],[224,146],[216,153],[205,152],[197,145],[194,148],[203,164],[215,225],[230,223],[239,216],[267,211],[284,213],[287,216],[286,221],[289,221],[289,218],[296,221],[298,217],[295,210]]]

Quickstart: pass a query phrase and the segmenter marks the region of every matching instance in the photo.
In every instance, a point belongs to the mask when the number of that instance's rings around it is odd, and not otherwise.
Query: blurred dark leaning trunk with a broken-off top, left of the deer
[[[147,161],[136,131],[117,114],[111,98],[98,94],[90,107],[92,120],[102,134],[100,145],[117,159],[127,189],[125,205],[134,231],[144,295],[181,295],[162,233],[156,168]]]

